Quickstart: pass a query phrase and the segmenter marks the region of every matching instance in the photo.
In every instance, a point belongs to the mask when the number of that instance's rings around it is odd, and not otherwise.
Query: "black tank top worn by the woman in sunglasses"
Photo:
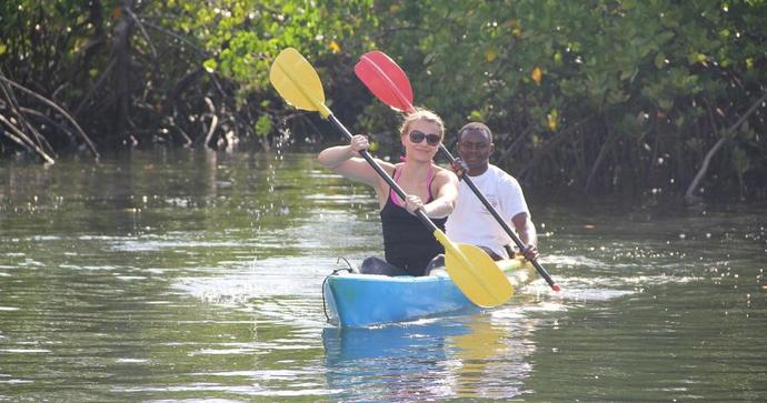
[[[397,170],[395,169],[395,175]],[[392,177],[395,177],[392,175]],[[432,179],[434,180],[434,179]],[[431,189],[431,182],[429,182]],[[424,225],[418,216],[408,213],[391,200],[391,193],[381,210],[381,226],[384,230],[384,251],[386,261],[404,269],[410,275],[424,275],[426,265],[431,259],[445,253],[445,248],[435,239],[434,234]],[[432,200],[429,191],[429,200]],[[431,219],[435,225],[445,231],[445,219]]]

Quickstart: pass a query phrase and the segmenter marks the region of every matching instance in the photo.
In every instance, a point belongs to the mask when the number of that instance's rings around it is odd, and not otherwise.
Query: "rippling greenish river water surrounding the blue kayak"
[[[312,155],[0,162],[0,401],[767,400],[767,205],[528,202],[561,293],[338,330],[380,228]]]

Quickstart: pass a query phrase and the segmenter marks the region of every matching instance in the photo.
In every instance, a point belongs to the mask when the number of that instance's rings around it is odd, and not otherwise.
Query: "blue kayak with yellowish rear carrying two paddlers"
[[[534,266],[524,259],[496,263],[515,286],[530,282],[535,275]],[[322,298],[328,321],[341,328],[366,328],[480,310],[444,269],[418,278],[337,271],[323,282]]]

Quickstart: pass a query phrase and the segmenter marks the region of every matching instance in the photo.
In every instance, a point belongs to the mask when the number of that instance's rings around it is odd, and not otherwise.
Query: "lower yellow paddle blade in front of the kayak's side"
[[[511,298],[514,286],[485,251],[475,245],[452,243],[440,230],[434,235],[445,246],[445,269],[469,301],[491,308]]]

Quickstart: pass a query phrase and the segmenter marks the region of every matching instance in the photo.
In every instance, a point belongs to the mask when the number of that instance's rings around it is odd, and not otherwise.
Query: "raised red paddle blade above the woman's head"
[[[400,111],[411,111],[412,88],[397,63],[386,53],[375,50],[362,54],[355,73],[378,99]]]

